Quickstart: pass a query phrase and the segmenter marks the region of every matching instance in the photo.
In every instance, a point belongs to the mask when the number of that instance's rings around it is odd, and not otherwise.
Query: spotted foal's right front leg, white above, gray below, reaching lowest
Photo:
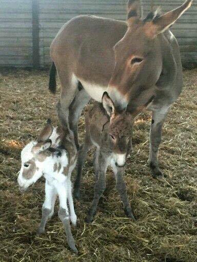
[[[68,191],[66,190],[68,188],[68,185],[59,184],[57,189],[58,197],[60,199],[60,209],[58,211],[58,216],[60,217],[60,220],[62,221],[66,236],[67,236],[67,243],[69,247],[75,252],[78,253],[74,238],[72,236],[71,228],[70,228],[70,214],[67,206],[67,198],[68,198]]]

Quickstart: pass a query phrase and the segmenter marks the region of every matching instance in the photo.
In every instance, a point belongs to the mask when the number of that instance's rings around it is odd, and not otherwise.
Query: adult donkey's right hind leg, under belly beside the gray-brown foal
[[[82,114],[84,106],[89,102],[89,100],[90,100],[90,96],[84,89],[82,89],[81,91],[77,92],[74,100],[72,101],[69,107],[69,124],[70,124],[70,129],[74,133],[74,141],[77,150],[80,147],[80,145],[78,144],[78,134],[77,134],[78,119]]]

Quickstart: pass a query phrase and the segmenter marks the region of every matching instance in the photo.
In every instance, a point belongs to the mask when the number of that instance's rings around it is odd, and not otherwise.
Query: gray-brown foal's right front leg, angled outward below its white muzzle
[[[114,176],[115,176],[115,180],[116,180],[116,188],[117,188],[117,191],[119,191],[120,196],[121,196],[121,200],[123,202],[125,214],[128,217],[130,217],[131,219],[135,220],[133,213],[132,213],[132,210],[131,210],[131,206],[130,206],[129,201],[128,201],[128,197],[127,197],[126,183],[123,179],[125,168],[124,167],[116,167],[114,162],[111,163],[111,166],[112,166]]]

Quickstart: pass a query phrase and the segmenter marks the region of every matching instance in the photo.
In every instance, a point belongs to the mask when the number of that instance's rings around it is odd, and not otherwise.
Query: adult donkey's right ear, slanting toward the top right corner
[[[175,21],[191,6],[193,0],[187,0],[182,6],[161,16],[155,15],[152,21],[145,18],[145,33],[148,37],[154,38],[156,35],[166,31]]]

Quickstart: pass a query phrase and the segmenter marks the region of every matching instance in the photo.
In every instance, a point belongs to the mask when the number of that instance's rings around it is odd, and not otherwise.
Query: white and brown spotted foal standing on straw
[[[22,150],[18,184],[24,191],[39,178],[45,177],[45,202],[37,232],[41,234],[45,231],[47,220],[53,215],[58,195],[60,200],[58,216],[65,227],[69,247],[77,253],[70,228],[70,220],[76,226],[70,180],[71,172],[76,165],[76,156],[74,136],[70,129],[53,128],[51,121],[48,120],[37,141],[31,141]]]

